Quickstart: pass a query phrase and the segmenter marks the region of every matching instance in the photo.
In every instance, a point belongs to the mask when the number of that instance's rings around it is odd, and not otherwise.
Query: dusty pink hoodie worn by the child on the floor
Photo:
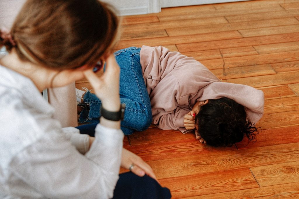
[[[221,82],[192,57],[167,48],[142,46],[140,62],[152,105],[152,123],[186,133],[184,116],[197,101],[227,97],[245,107],[250,122],[264,112],[264,93],[253,87]]]

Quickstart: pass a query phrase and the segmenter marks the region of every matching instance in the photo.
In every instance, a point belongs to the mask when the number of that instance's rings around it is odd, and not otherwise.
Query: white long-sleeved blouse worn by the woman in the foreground
[[[123,132],[61,128],[33,82],[0,66],[0,198],[111,198]]]

